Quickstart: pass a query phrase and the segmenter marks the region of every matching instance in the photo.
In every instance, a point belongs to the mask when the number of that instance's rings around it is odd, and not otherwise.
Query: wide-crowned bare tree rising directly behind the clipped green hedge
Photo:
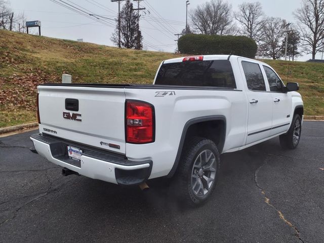
[[[198,33],[218,34],[228,33],[232,23],[232,6],[223,0],[211,0],[190,11],[190,19]]]

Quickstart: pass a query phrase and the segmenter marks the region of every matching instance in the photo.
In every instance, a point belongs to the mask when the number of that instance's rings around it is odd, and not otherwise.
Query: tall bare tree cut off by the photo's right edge
[[[300,24],[304,52],[315,59],[316,53],[324,48],[324,0],[303,0],[294,14]]]

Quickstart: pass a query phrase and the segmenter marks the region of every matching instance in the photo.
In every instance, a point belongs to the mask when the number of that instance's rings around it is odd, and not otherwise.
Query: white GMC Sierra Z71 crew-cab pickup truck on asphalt
[[[175,177],[177,194],[203,203],[220,154],[279,136],[297,147],[303,101],[267,64],[228,55],[163,61],[153,85],[38,86],[33,152],[77,174],[120,185]]]

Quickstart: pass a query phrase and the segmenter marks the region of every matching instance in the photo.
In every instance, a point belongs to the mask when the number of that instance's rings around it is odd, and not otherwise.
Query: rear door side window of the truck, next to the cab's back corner
[[[249,90],[266,91],[264,78],[259,64],[242,61],[242,67],[247,79]]]

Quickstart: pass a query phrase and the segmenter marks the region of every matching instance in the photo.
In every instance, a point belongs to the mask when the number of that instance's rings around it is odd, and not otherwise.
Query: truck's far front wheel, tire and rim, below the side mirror
[[[299,114],[295,114],[288,132],[279,136],[280,145],[284,149],[295,149],[300,141],[302,133],[302,119]],[[297,140],[296,140],[297,139]]]

